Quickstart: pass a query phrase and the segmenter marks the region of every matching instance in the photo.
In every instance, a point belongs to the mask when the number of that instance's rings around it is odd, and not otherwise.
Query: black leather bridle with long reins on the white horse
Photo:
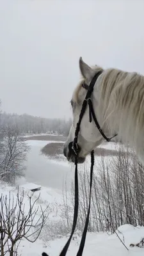
[[[112,138],[114,138],[117,134],[115,134],[113,137],[108,138],[104,132],[102,131],[102,129],[100,128],[99,122],[97,121],[97,118],[95,116],[95,111],[93,109],[93,104],[92,104],[92,99],[91,99],[91,95],[93,92],[93,87],[95,85],[95,82],[97,81],[97,78],[100,76],[100,74],[102,74],[102,71],[99,71],[97,74],[95,74],[95,76],[93,77],[90,86],[88,86],[88,84],[83,83],[82,86],[84,89],[86,89],[88,92],[86,93],[86,97],[83,101],[83,105],[81,108],[81,113],[79,115],[79,122],[77,123],[76,126],[76,131],[75,131],[75,138],[74,141],[71,141],[68,145],[68,149],[70,152],[72,152],[75,155],[75,201],[74,201],[74,220],[73,220],[73,225],[72,225],[72,231],[70,234],[70,237],[67,241],[67,243],[65,244],[65,246],[63,247],[63,250],[60,253],[60,256],[65,256],[68,250],[68,247],[70,245],[70,241],[72,239],[72,236],[74,234],[74,230],[76,228],[76,223],[77,223],[77,215],[78,215],[78,208],[79,208],[79,186],[78,186],[78,172],[77,172],[77,159],[79,156],[79,150],[80,147],[77,144],[77,139],[78,139],[78,134],[79,134],[79,129],[80,129],[80,125],[81,125],[81,120],[83,118],[84,112],[86,110],[86,106],[88,104],[89,106],[89,118],[90,118],[90,122],[92,122],[92,117],[93,120],[95,122],[95,125],[97,127],[97,129],[99,130],[100,134],[102,134],[103,138],[106,141],[111,141]],[[93,166],[94,166],[94,150],[92,150],[91,152],[91,167],[90,167],[90,196],[89,196],[89,205],[88,205],[88,213],[86,216],[86,222],[84,225],[84,230],[83,230],[83,235],[81,237],[81,243],[79,245],[79,250],[77,252],[76,256],[81,256],[83,254],[83,249],[84,249],[84,244],[85,244],[85,239],[86,239],[86,232],[88,230],[88,221],[89,221],[89,216],[90,216],[90,203],[91,203],[91,194],[92,194],[92,179],[93,179]],[[42,253],[42,256],[48,256],[47,253]]]

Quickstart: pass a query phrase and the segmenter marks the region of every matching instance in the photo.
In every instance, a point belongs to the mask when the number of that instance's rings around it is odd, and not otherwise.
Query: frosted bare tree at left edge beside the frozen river
[[[29,147],[22,140],[17,125],[5,125],[1,133],[0,177],[6,182],[14,182],[15,177],[22,175]]]

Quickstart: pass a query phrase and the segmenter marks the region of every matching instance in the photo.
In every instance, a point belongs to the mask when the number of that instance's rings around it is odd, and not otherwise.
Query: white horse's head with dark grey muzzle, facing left
[[[97,116],[97,123],[100,126],[100,129],[98,126],[96,127],[95,122],[93,122],[93,120],[92,122],[89,122],[90,109],[88,108],[87,104],[83,114],[83,118],[81,120],[79,134],[77,137],[77,145],[79,146],[79,154],[77,157],[77,161],[78,163],[83,163],[86,156],[90,152],[92,152],[92,150],[95,147],[100,145],[102,141],[104,141],[104,136],[102,136],[102,134],[100,133],[101,128],[103,133],[106,134],[106,136],[109,136],[110,134],[108,132],[108,128],[106,127],[106,125],[104,125],[103,122],[104,109],[102,109],[102,102],[104,99],[100,97],[100,82],[102,80],[104,70],[98,66],[89,67],[86,63],[84,63],[82,58],[79,59],[79,68],[83,78],[75,88],[74,93],[72,95],[72,99],[70,100],[70,103],[72,105],[73,122],[68,134],[67,141],[65,142],[63,148],[63,154],[65,155],[65,157],[67,157],[68,161],[70,162],[75,161],[76,152],[74,150],[71,150],[70,143],[74,141],[74,138],[76,136],[75,131],[77,123],[79,122],[79,116],[81,114],[81,109],[86,97],[86,93],[90,88],[90,84],[92,82],[93,77],[100,73],[99,77],[97,77],[97,80],[95,81],[91,97],[93,109],[95,111],[95,116]]]

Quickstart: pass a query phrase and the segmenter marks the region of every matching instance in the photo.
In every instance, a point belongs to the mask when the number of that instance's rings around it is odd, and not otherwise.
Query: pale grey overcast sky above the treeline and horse
[[[3,111],[71,116],[79,57],[144,74],[143,0],[0,0]]]

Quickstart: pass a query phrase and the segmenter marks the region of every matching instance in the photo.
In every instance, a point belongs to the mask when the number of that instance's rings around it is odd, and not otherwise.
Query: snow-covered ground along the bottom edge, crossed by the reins
[[[83,256],[142,256],[144,254],[144,248],[131,248],[129,245],[140,242],[144,234],[144,228],[123,225],[118,230],[124,235],[125,245],[129,248],[129,251],[127,251],[118,237],[116,237],[116,234],[109,236],[106,233],[88,233]],[[122,237],[121,235],[120,238],[122,239]],[[81,237],[77,237],[75,241],[72,241],[67,255],[77,255],[80,239]],[[35,244],[24,243],[23,250],[21,249],[19,252],[22,253],[22,256],[40,256],[42,252],[48,253],[49,256],[58,256],[66,242],[67,239],[65,237],[56,239],[56,241],[49,242],[47,248],[44,248],[41,243],[36,243],[36,246]]]

